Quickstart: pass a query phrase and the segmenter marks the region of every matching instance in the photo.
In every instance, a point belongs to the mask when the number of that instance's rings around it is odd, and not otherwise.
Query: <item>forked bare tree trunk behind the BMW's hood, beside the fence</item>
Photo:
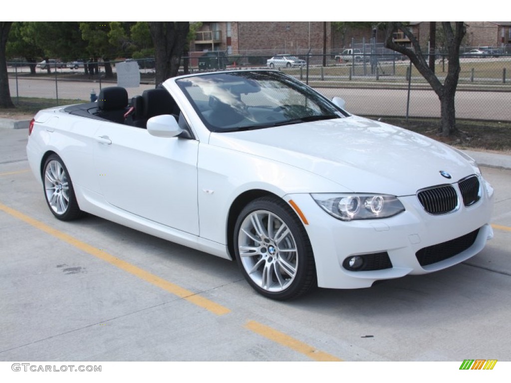
[[[426,81],[431,85],[438,99],[440,100],[440,128],[438,134],[442,136],[450,136],[457,133],[456,129],[456,110],[454,107],[454,98],[456,95],[456,87],[459,79],[459,47],[466,33],[466,28],[462,21],[451,23],[450,21],[442,22],[442,29],[446,38],[447,58],[449,60],[447,76],[442,84],[435,76],[435,73],[426,62],[426,57],[419,45],[419,41],[413,33],[399,21],[388,21],[386,23],[385,46],[393,51],[399,52],[407,56],[413,65],[424,76]],[[412,47],[407,48],[393,41],[392,34],[402,31],[411,42]]]

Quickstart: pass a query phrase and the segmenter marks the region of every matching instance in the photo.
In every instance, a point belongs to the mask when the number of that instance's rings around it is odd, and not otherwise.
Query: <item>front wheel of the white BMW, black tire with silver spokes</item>
[[[245,206],[236,221],[234,244],[243,276],[267,298],[297,298],[317,284],[309,236],[294,211],[277,197]]]

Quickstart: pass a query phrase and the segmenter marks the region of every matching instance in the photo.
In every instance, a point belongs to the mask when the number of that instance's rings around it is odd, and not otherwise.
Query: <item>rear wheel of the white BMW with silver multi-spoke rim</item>
[[[83,216],[76,200],[73,183],[59,156],[52,154],[47,158],[42,177],[46,203],[56,218],[71,221]]]

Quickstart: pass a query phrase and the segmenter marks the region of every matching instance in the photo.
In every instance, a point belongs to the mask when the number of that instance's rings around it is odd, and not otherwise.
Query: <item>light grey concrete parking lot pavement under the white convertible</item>
[[[94,216],[53,218],[26,130],[0,130],[0,361],[511,360],[511,171],[495,238],[448,270],[275,302],[234,262]]]

